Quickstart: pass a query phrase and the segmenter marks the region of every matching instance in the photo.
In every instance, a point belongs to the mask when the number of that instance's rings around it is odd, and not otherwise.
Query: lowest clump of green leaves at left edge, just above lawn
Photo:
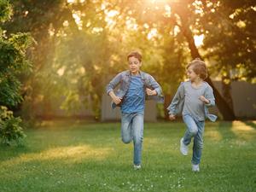
[[[20,145],[26,137],[20,123],[20,117],[15,118],[12,111],[0,106],[0,142],[6,145]]]

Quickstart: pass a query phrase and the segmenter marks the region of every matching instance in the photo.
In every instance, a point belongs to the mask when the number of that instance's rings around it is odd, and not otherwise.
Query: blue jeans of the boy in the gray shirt
[[[192,164],[198,165],[201,161],[201,151],[203,148],[203,134],[205,129],[205,121],[199,121],[191,117],[189,114],[183,115],[183,121],[187,125],[187,131],[183,137],[183,143],[189,145],[192,137],[194,137]]]

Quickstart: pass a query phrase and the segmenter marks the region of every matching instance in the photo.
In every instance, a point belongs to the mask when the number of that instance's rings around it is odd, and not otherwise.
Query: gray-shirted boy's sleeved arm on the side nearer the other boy
[[[167,108],[170,115],[175,116],[177,114],[177,104],[183,99],[183,96],[184,96],[184,85],[183,83],[181,83],[177,88],[177,92],[173,97],[171,104]]]

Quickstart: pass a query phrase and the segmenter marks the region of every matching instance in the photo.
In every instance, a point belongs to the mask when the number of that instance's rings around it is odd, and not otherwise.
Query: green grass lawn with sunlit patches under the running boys
[[[143,169],[119,123],[52,123],[26,131],[24,147],[0,146],[0,191],[256,191],[256,122],[207,123],[201,172],[179,153],[183,123],[146,124]]]

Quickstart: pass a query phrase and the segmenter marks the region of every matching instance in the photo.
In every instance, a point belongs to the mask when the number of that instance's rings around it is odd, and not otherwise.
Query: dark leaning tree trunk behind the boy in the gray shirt
[[[192,56],[193,59],[195,59],[196,57],[201,58],[201,55],[199,54],[198,49],[195,46],[195,41],[193,38],[193,34],[191,32],[191,30],[189,29],[189,25],[185,19],[185,17],[183,17],[183,15],[179,15],[182,21],[182,32],[184,37],[186,38],[186,40],[189,43],[189,49],[190,49],[190,54]],[[219,91],[216,89],[216,87],[214,86],[214,84],[212,84],[212,80],[209,78],[209,76],[206,79],[207,83],[211,85],[212,89],[213,89],[213,93],[216,99],[216,104],[218,107],[219,112],[223,115],[223,119],[224,120],[234,120],[236,119],[235,113],[233,111],[232,108],[230,108],[229,104],[224,100],[223,96],[220,95]]]

